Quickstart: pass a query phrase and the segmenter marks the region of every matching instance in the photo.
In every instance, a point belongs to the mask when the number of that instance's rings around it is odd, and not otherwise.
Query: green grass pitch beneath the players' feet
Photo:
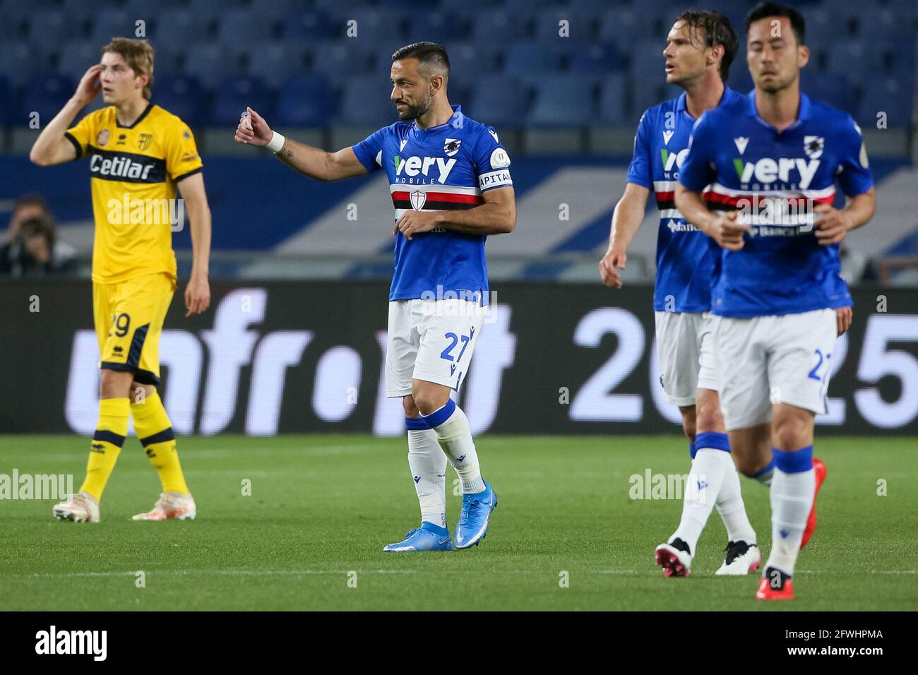
[[[0,474],[83,478],[88,442],[0,438]],[[483,436],[499,506],[481,546],[386,554],[419,520],[404,438],[182,438],[194,522],[141,523],[156,473],[129,438],[102,523],[59,523],[52,501],[0,501],[0,610],[915,610],[918,490],[913,438],[824,438],[819,527],[801,554],[797,600],[753,598],[755,575],[719,578],[716,512],[689,579],[664,579],[656,545],[681,502],[629,498],[633,474],[687,473],[677,436]],[[252,495],[242,495],[242,481]],[[461,498],[447,478],[451,529]],[[886,494],[878,494],[878,481]],[[767,489],[743,480],[763,548]],[[882,490],[879,490],[882,491]],[[145,575],[138,588],[136,572]],[[353,575],[352,572],[356,572]],[[568,580],[566,588],[562,581]]]

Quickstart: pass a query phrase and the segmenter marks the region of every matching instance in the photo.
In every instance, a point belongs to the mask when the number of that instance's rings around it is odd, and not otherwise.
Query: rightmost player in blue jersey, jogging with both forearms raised
[[[873,216],[876,197],[854,119],[800,92],[809,60],[800,13],[760,3],[746,33],[755,91],[696,123],[676,203],[722,247],[711,307],[723,419],[741,471],[775,465],[756,598],[789,599],[814,499],[814,416],[825,411],[836,309],[851,305],[838,244]]]

